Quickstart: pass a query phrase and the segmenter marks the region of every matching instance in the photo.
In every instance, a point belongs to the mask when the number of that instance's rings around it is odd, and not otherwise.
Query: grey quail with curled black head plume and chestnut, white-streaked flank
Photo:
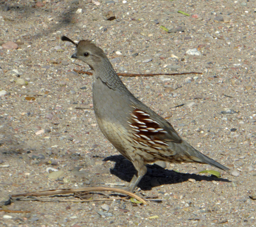
[[[78,44],[72,58],[81,60],[93,71],[93,105],[99,128],[112,145],[137,170],[129,183],[133,192],[146,174],[146,164],[156,161],[196,162],[229,169],[208,158],[179,137],[173,126],[127,89],[102,49],[89,40]]]

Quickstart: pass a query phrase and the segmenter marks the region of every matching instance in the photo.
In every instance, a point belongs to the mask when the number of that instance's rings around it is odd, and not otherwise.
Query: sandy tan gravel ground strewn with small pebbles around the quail
[[[92,79],[73,71],[90,68],[70,58],[75,49],[62,35],[93,40],[118,73],[202,73],[121,79],[184,140],[230,169],[216,178],[199,173],[217,170],[207,165],[148,165],[136,191],[158,196],[148,206],[107,192],[78,195],[105,199],[88,203],[1,202],[30,212],[0,211],[2,225],[255,226],[255,9],[255,1],[230,0],[2,1],[0,201],[121,187],[135,173],[100,132]],[[109,11],[115,19],[104,19]]]

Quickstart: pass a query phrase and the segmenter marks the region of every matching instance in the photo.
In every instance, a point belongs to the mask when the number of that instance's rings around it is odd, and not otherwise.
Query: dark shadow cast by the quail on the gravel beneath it
[[[128,161],[122,155],[112,155],[104,158],[104,161],[113,161],[115,162],[115,167],[110,169],[110,173],[116,175],[121,180],[130,182],[134,174],[136,174],[135,167],[132,162]],[[146,165],[148,171],[145,176],[142,178],[141,182],[138,184],[138,187],[141,190],[151,190],[152,189],[152,179],[157,179],[157,184],[176,184],[186,182],[188,179],[195,179],[196,181],[207,180],[207,181],[219,181],[219,182],[231,182],[228,179],[217,178],[216,176],[203,176],[198,174],[187,174],[187,173],[178,173],[173,170],[163,169],[160,166]],[[153,183],[155,184],[155,183]]]

